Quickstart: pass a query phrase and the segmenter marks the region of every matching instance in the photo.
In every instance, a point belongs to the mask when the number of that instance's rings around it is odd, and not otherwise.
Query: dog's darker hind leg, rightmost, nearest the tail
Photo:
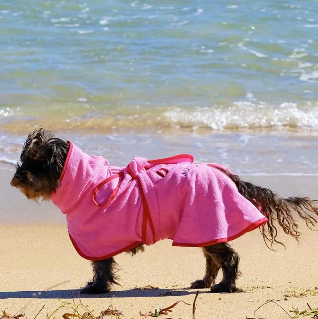
[[[212,286],[211,291],[213,293],[233,293],[237,291],[235,282],[240,275],[238,271],[240,258],[237,252],[228,243],[207,246],[204,249],[211,258],[219,262],[223,271],[222,281]]]

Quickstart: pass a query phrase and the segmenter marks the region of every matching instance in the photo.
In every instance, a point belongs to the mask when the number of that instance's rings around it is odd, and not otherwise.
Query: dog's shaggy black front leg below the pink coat
[[[114,258],[93,261],[93,281],[88,282],[81,293],[108,293],[112,285],[119,285],[114,273],[116,265]]]

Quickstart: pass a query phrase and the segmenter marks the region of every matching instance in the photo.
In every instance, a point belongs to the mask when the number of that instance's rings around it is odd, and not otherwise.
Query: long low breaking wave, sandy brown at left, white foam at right
[[[250,99],[251,100],[251,99]],[[318,105],[298,106],[296,103],[271,105],[234,102],[231,106],[215,108],[152,108],[138,111],[117,110],[110,114],[89,114],[70,119],[54,117],[32,120],[4,121],[2,130],[27,132],[43,125],[52,130],[81,130],[105,132],[112,130],[240,130],[240,129],[318,129]]]

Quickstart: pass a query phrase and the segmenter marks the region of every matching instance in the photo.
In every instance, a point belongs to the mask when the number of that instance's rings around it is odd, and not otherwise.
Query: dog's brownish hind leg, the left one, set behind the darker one
[[[215,285],[216,276],[221,267],[220,261],[216,259],[215,255],[210,254],[204,247],[203,254],[206,259],[205,276],[203,279],[199,279],[191,283],[190,289],[211,288],[211,286]]]

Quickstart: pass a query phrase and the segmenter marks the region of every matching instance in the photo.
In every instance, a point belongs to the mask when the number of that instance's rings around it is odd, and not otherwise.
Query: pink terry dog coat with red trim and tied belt
[[[67,218],[70,239],[89,260],[172,239],[173,246],[231,241],[267,222],[216,164],[192,155],[134,158],[110,166],[70,143],[53,204]],[[224,168],[224,167],[223,167]]]

